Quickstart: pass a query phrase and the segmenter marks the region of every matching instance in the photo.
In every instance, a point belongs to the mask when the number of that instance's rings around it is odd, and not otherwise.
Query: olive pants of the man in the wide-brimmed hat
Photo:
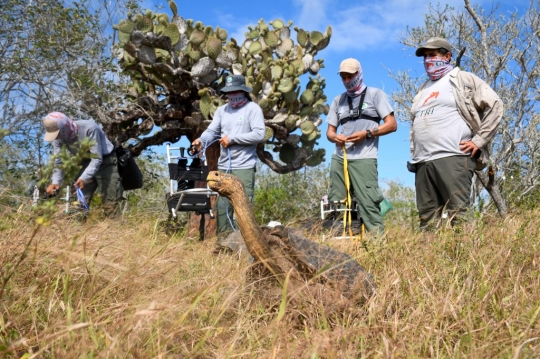
[[[253,202],[255,193],[255,168],[230,170],[228,173],[238,177],[244,185],[249,200]],[[218,233],[228,232],[238,228],[234,220],[234,209],[227,198],[219,197],[217,212]]]

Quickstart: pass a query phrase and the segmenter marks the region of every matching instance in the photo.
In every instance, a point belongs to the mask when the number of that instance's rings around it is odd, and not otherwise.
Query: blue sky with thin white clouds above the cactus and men
[[[309,31],[323,32],[331,25],[333,35],[330,45],[317,57],[324,58],[326,67],[319,73],[326,78],[325,93],[329,99],[344,90],[337,71],[340,62],[348,57],[354,57],[362,64],[367,86],[381,88],[389,96],[397,90],[397,84],[390,78],[388,69],[393,72],[411,71],[413,76],[424,74],[420,59],[414,56],[414,49],[401,45],[399,38],[404,35],[407,26],[415,27],[423,24],[423,14],[427,12],[429,1],[176,0],[176,3],[179,14],[184,18],[224,28],[229,32],[229,37],[234,37],[238,42],[244,40],[247,26],[255,25],[260,18],[264,18],[266,22],[278,18],[284,21],[292,20],[293,26],[297,25]],[[441,3],[449,4],[456,9],[464,5],[463,0]],[[480,5],[485,10],[493,6],[493,2],[486,0],[473,0],[472,4]],[[514,7],[523,8],[527,4],[528,2],[524,0],[502,2],[502,8],[513,10]],[[165,1],[142,2],[145,9],[156,10],[156,5],[164,7],[163,11],[170,13]],[[293,31],[294,34],[296,32]],[[306,79],[307,76],[306,74]],[[397,118],[397,120],[397,132],[380,139],[379,179],[382,186],[385,181],[394,180],[414,187],[414,175],[406,169],[406,162],[409,160],[409,126],[403,122],[404,119]],[[323,134],[326,133],[326,122],[320,128]],[[319,140],[319,146],[327,149],[328,164],[334,145],[323,135]]]

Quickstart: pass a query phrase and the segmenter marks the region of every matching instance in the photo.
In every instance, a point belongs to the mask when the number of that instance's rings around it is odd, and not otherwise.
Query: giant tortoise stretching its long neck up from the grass
[[[249,253],[281,285],[288,275],[289,285],[322,285],[334,297],[337,294],[347,300],[364,301],[373,294],[373,276],[348,254],[313,242],[294,228],[260,227],[237,177],[212,171],[207,181],[212,190],[231,201]]]

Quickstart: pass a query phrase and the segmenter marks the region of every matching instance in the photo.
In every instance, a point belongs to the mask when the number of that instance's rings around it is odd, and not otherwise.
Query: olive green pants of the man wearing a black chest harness
[[[380,204],[384,197],[379,188],[379,175],[377,172],[377,159],[367,158],[349,160],[348,172],[351,184],[351,193],[358,202],[358,213],[368,231],[384,232]],[[330,201],[343,201],[347,198],[345,188],[345,171],[343,158],[332,155],[330,164]]]

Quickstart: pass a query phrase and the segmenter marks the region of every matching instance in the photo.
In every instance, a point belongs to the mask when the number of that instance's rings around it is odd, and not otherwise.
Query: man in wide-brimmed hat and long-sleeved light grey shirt
[[[251,88],[246,86],[243,76],[227,76],[221,92],[227,94],[229,102],[218,107],[210,126],[192,145],[201,151],[219,140],[221,154],[218,169],[237,176],[244,184],[248,197],[253,200],[257,144],[264,141],[264,115],[259,105],[251,102]],[[233,226],[233,213],[230,202],[221,197],[218,203],[218,232]]]

